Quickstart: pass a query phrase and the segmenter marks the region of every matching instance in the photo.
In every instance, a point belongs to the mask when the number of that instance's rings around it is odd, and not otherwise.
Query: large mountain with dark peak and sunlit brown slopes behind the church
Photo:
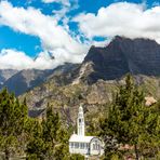
[[[82,103],[85,117],[94,120],[104,112],[129,72],[146,96],[159,97],[160,44],[149,39],[116,37],[105,48],[92,46],[82,64],[53,74],[19,98],[27,98],[34,115],[50,103],[68,123],[75,123],[78,106]]]

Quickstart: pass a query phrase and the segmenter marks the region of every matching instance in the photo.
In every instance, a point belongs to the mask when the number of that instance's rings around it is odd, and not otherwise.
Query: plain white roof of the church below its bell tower
[[[94,138],[95,136],[83,136],[83,135],[77,135],[77,134],[72,134],[69,138],[69,142],[74,142],[74,143],[90,143],[92,138]]]

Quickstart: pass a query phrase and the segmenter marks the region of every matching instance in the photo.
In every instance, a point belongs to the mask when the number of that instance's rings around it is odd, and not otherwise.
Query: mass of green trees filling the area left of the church
[[[15,155],[27,160],[82,160],[80,155],[69,155],[68,137],[51,106],[41,120],[32,119],[26,99],[21,104],[6,89],[0,93],[0,152],[4,160]]]

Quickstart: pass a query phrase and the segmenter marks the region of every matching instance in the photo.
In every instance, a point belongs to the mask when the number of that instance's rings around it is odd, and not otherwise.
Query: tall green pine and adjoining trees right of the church
[[[157,158],[160,154],[160,103],[145,106],[144,93],[128,76],[125,85],[120,86],[101,121],[101,130],[105,159]]]

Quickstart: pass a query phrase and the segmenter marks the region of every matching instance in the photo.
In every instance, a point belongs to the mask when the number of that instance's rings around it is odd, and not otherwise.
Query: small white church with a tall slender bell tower
[[[84,130],[83,108],[80,106],[77,118],[77,134],[74,133],[69,138],[69,152],[84,156],[102,156],[104,154],[102,141],[96,136],[85,136]]]

